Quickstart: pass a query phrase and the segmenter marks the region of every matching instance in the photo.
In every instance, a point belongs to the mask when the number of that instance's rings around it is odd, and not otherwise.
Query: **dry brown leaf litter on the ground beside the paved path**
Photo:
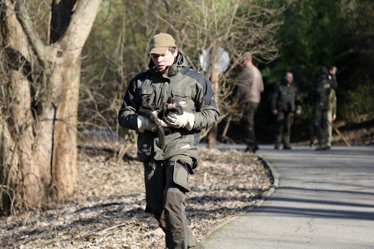
[[[165,248],[164,233],[144,212],[141,162],[117,163],[111,153],[80,149],[78,170],[76,191],[69,199],[0,217],[1,248]],[[187,194],[189,229],[203,241],[219,223],[248,211],[271,180],[255,154],[200,147]]]

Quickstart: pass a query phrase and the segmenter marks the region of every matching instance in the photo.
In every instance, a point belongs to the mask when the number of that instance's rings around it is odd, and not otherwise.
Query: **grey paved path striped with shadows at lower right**
[[[374,147],[257,152],[279,179],[261,206],[213,231],[207,249],[374,248]]]

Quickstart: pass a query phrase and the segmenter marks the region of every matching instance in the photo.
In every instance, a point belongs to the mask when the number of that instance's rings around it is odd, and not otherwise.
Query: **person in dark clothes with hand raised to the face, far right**
[[[316,150],[330,149],[328,146],[328,111],[330,109],[330,91],[336,89],[338,83],[335,73],[337,67],[329,71],[326,67],[321,67],[316,81],[316,95],[314,104],[313,125],[317,135],[318,147]]]

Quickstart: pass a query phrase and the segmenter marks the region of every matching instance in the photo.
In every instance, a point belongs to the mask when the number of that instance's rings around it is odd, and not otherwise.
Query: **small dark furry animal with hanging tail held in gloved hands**
[[[160,121],[158,121],[157,118],[165,121],[165,118],[169,114],[169,112],[173,112],[175,114],[182,115],[183,114],[183,109],[182,109],[182,106],[180,104],[176,103],[176,98],[175,98],[174,94],[172,94],[169,97],[168,103],[165,103],[165,102],[163,103],[163,107],[161,109],[161,112],[158,114],[158,116],[156,118],[152,114],[152,112],[154,112],[158,109],[160,109],[160,108],[158,108],[154,105],[149,105],[145,102],[142,102],[142,104],[140,105],[140,108],[138,110],[138,114],[147,117],[148,119],[151,120],[152,124],[155,125],[156,132],[157,132],[157,135],[158,135],[159,140],[160,140],[160,147],[162,149],[165,149],[165,132],[166,131],[171,132],[174,128],[162,126],[162,124],[160,123]]]

